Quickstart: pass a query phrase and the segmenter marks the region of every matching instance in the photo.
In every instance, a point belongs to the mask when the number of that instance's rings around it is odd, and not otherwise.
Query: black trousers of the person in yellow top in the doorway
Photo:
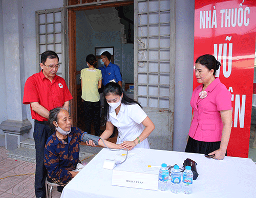
[[[83,101],[84,107],[84,118],[86,119],[86,132],[91,134],[92,120],[94,123],[95,135],[99,136],[100,132],[100,101],[98,102],[88,102]]]

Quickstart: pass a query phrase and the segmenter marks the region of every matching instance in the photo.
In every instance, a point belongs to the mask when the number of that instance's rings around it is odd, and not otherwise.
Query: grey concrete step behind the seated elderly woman
[[[101,147],[91,147],[87,145],[80,145],[79,159],[83,160],[90,156],[94,156],[100,152]],[[35,141],[34,139],[26,139],[20,142],[20,147],[7,153],[10,158],[24,160],[35,163]]]

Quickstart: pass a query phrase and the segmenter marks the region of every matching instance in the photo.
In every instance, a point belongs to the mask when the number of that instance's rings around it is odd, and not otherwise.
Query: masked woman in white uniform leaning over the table
[[[123,149],[134,147],[150,149],[147,137],[155,129],[154,123],[142,110],[140,104],[127,97],[122,88],[114,82],[106,84],[103,90],[105,97],[103,117],[106,129],[100,136],[108,139],[118,129],[117,144]]]

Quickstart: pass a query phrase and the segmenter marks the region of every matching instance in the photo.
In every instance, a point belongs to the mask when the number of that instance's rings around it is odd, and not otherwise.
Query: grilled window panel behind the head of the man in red
[[[52,50],[59,57],[57,75],[65,78],[65,34],[63,8],[36,11],[36,54],[39,64],[41,54]],[[38,67],[38,71],[40,66]],[[66,79],[67,80],[67,79]]]

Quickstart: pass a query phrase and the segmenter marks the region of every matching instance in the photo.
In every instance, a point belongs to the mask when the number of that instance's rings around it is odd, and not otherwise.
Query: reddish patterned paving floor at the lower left
[[[0,146],[0,197],[35,197],[35,175],[25,175],[35,173],[35,163],[8,158],[7,153],[8,150]],[[53,188],[52,197],[60,197],[56,188]]]

